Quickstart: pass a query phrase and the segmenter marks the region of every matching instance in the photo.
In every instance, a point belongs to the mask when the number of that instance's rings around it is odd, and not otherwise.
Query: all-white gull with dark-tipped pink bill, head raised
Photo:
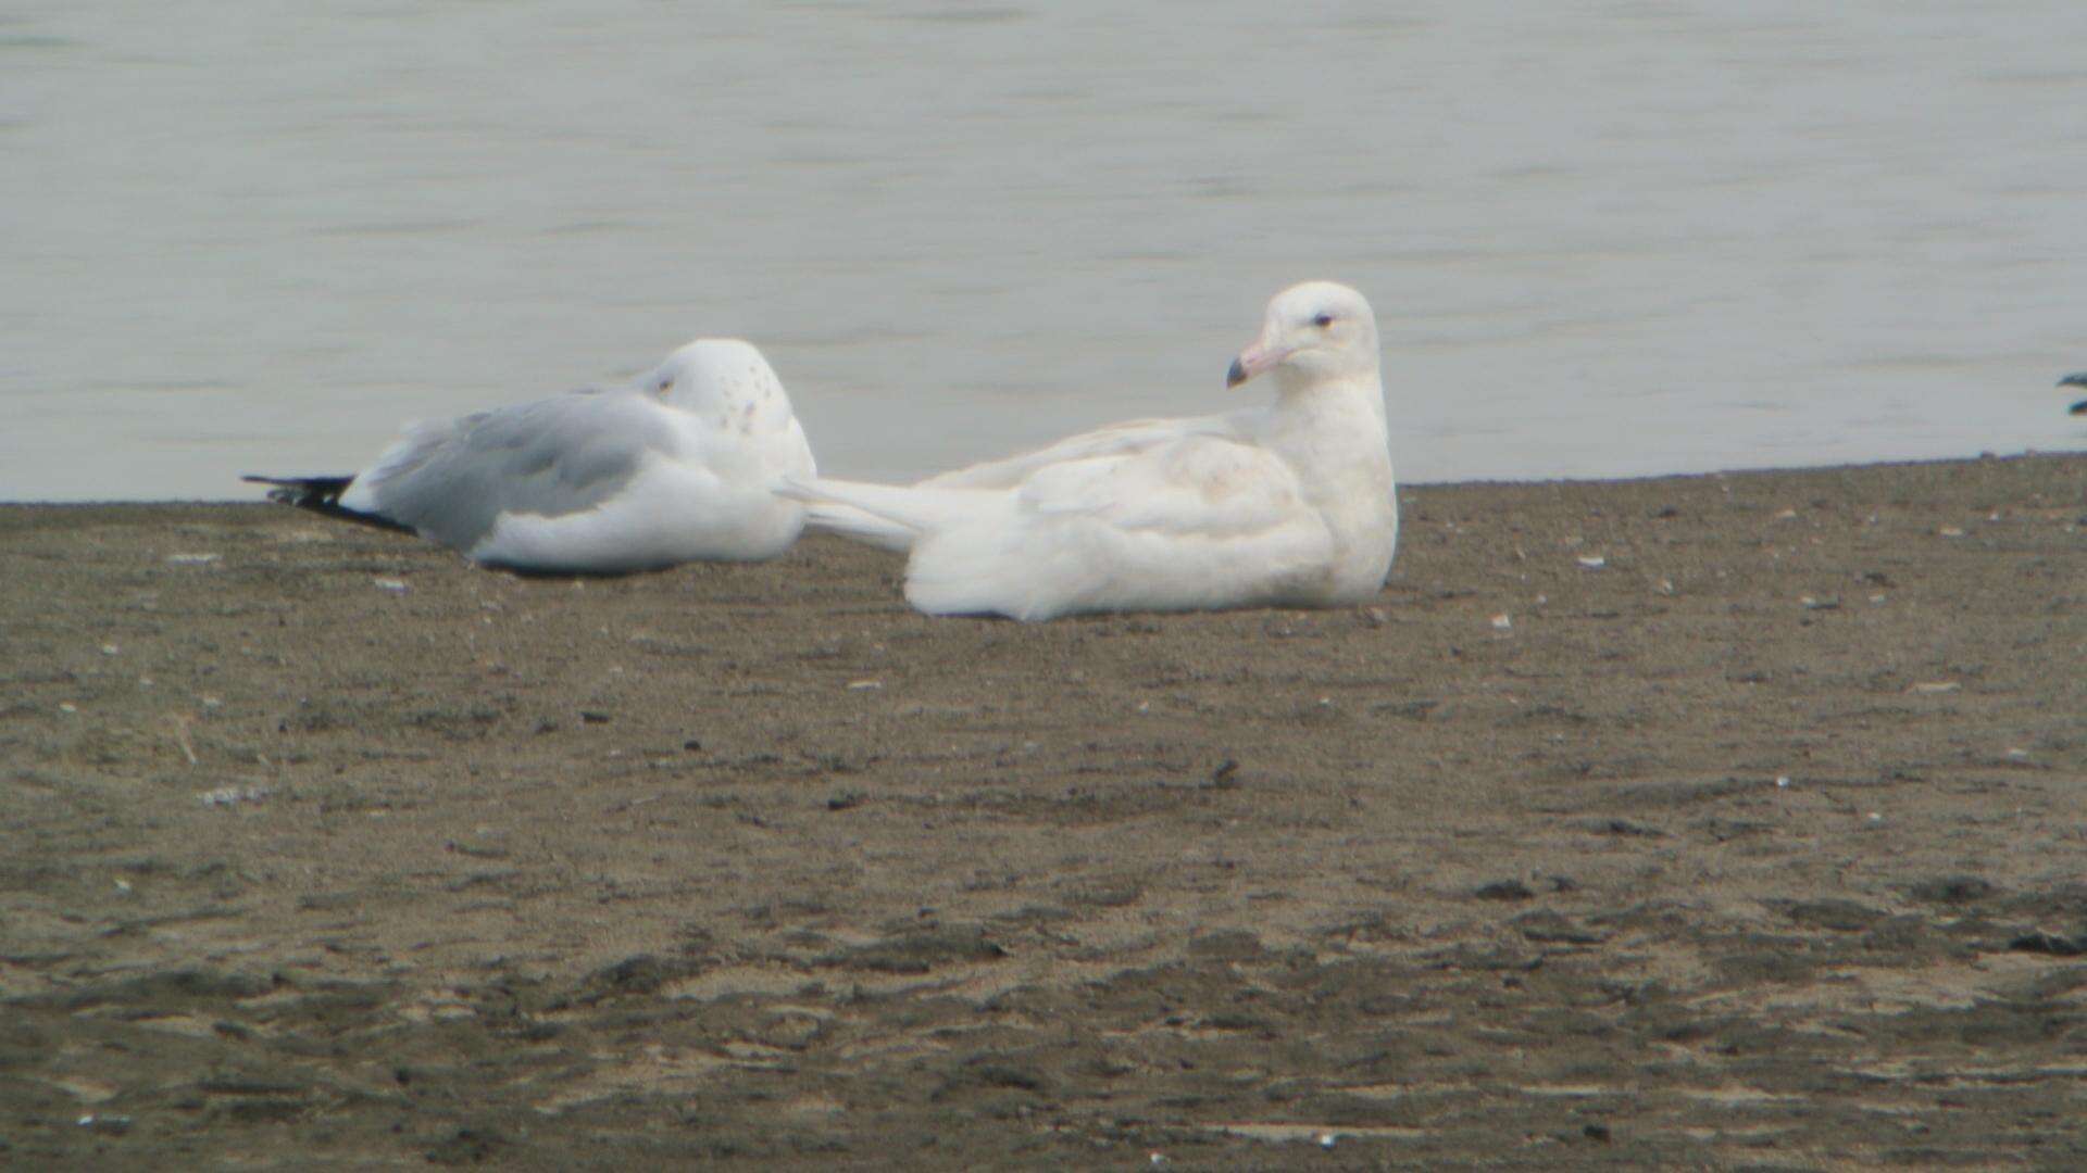
[[[1363,294],[1306,282],[1269,303],[1229,386],[1275,403],[1140,420],[912,486],[787,478],[812,526],[908,551],[931,616],[1323,607],[1373,597],[1398,501]]]

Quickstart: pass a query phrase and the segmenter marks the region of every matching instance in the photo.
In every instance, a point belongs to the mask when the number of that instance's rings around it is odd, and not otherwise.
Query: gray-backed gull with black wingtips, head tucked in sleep
[[[781,476],[816,476],[783,380],[749,342],[697,338],[630,386],[415,424],[351,478],[246,480],[486,566],[624,574],[783,553],[803,507]]]

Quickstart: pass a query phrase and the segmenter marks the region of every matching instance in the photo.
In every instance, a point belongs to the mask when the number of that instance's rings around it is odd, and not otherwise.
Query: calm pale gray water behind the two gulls
[[[1236,403],[1319,276],[1409,480],[2087,447],[2079,0],[317,8],[0,8],[0,499],[250,497],[695,334],[929,472]]]

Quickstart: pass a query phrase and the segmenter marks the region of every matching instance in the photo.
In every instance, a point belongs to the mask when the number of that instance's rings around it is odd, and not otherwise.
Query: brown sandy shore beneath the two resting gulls
[[[1419,486],[1371,607],[1046,626],[0,543],[0,1165],[2087,1165],[2081,455]]]

